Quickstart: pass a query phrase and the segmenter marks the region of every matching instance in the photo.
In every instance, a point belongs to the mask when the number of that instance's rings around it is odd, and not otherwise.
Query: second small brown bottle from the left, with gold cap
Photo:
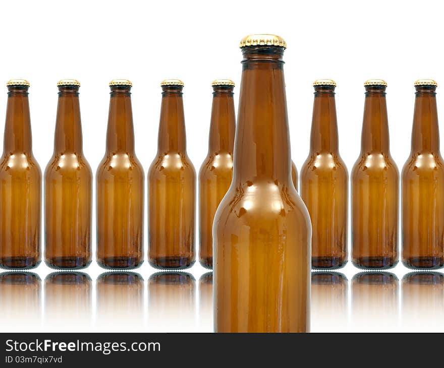
[[[91,263],[92,171],[83,156],[80,83],[64,79],[57,86],[54,153],[44,174],[45,263],[77,269]]]

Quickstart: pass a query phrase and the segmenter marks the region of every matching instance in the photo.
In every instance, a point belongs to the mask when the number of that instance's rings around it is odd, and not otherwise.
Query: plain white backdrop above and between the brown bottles
[[[439,88],[444,83],[441,15],[437,1],[318,0],[300,5],[260,0],[2,2],[0,84],[4,84],[4,92],[0,93],[0,116],[6,113],[6,82],[29,80],[33,150],[43,171],[52,154],[56,83],[64,78],[78,79],[84,154],[95,173],[105,148],[108,82],[129,79],[134,86],[136,153],[146,174],[156,154],[159,84],[163,79],[179,78],[185,83],[188,153],[198,171],[207,152],[211,81],[230,78],[239,86],[240,39],[251,33],[274,33],[283,36],[288,45],[284,55],[287,103],[292,156],[298,170],[309,148],[312,82],[330,78],[338,84],[340,152],[350,172],[360,152],[363,82],[381,78],[388,83],[391,150],[401,171],[410,152],[416,79],[437,81],[438,113],[442,116],[444,112]],[[238,91],[236,87],[236,104]],[[3,140],[3,129],[0,131]],[[146,254],[146,232],[144,238]],[[95,252],[95,236],[93,244]],[[146,281],[154,270],[145,263],[136,271],[145,279],[143,297],[147,299]],[[51,270],[42,264],[36,272],[43,280]],[[94,285],[103,270],[93,261],[86,272]],[[189,272],[196,278],[197,290],[197,280],[205,270],[196,263]],[[343,272],[351,280],[358,270],[348,265]],[[398,266],[393,272],[401,280],[407,269]],[[350,304],[350,298],[347,302]],[[200,325],[197,306],[193,313],[190,330],[211,330],[210,325]],[[57,329],[43,322],[40,329]],[[94,323],[91,326],[100,330]],[[343,329],[361,327],[349,323]],[[175,329],[174,324],[164,322],[165,331]]]

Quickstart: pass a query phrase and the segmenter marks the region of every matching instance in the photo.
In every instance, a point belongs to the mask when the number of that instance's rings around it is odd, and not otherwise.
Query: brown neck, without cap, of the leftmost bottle
[[[32,154],[31,118],[27,86],[8,87],[4,155],[13,152]]]

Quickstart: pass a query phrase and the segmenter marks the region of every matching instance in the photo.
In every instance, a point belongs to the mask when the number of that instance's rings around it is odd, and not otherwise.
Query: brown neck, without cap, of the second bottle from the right
[[[390,154],[385,86],[366,86],[361,154]]]

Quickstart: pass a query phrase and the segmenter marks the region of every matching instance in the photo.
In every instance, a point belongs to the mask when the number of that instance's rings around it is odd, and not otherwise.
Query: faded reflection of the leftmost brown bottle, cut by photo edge
[[[32,272],[0,273],[2,332],[32,332],[40,327],[41,281]]]

